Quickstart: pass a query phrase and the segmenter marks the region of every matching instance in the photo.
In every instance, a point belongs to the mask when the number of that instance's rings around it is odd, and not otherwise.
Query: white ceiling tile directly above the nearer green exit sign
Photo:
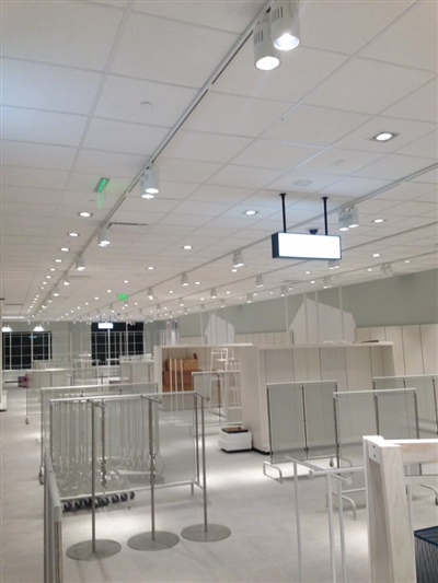
[[[80,173],[99,174],[110,178],[112,175],[132,178],[143,166],[145,156],[82,149],[74,170]]]

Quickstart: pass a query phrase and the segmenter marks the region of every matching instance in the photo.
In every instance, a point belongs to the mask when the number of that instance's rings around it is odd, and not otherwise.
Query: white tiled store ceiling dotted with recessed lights
[[[269,8],[1,3],[5,318],[169,318],[437,267],[438,4],[302,0],[300,45],[261,71]],[[272,258],[281,193],[296,233],[325,233],[328,197],[337,269]],[[351,207],[359,226],[339,233]]]

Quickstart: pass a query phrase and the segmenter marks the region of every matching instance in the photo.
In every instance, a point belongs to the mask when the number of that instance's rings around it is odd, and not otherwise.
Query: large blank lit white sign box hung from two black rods
[[[274,233],[272,235],[274,259],[341,259],[338,235],[307,235],[300,233]]]

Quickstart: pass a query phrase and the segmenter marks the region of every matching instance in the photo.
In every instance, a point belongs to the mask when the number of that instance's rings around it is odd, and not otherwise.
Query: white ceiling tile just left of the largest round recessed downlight
[[[274,124],[263,138],[328,145],[369,119],[362,114],[301,105]]]

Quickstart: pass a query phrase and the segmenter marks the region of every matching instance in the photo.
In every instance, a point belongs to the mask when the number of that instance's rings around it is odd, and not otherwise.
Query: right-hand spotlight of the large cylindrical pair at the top
[[[278,50],[291,50],[300,44],[298,0],[277,0],[269,13],[270,38]]]

